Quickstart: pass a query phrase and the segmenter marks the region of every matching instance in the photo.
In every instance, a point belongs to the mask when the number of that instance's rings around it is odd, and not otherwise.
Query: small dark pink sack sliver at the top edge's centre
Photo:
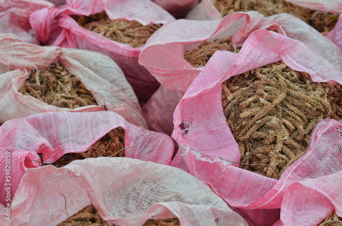
[[[175,18],[182,18],[197,5],[199,0],[153,0]]]

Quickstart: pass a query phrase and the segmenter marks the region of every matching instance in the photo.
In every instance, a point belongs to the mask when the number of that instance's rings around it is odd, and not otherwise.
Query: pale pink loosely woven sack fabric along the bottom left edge
[[[209,186],[180,169],[105,157],[29,169],[12,201],[11,221],[3,213],[0,223],[57,225],[91,203],[118,226],[140,226],[149,218],[179,218],[184,226],[247,225]]]

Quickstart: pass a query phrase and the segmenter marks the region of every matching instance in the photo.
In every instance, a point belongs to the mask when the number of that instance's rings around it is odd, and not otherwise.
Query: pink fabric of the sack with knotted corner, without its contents
[[[72,0],[56,9],[34,12],[30,23],[42,44],[87,49],[114,59],[143,104],[158,89],[159,83],[137,62],[142,47],[134,48],[109,40],[84,29],[69,16],[90,16],[104,10],[110,19],[137,20],[142,25],[166,24],[174,20],[168,12],[149,0]]]

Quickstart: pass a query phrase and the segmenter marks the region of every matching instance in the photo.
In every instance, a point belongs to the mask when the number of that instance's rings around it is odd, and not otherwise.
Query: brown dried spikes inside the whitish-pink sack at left
[[[19,92],[47,104],[68,109],[98,105],[81,81],[58,62],[47,69],[32,71]]]

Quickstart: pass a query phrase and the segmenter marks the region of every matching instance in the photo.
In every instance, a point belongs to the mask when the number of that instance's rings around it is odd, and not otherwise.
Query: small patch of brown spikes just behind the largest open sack
[[[220,38],[213,42],[203,42],[192,51],[185,51],[184,59],[191,63],[195,68],[199,68],[204,67],[216,51],[239,53],[240,48],[236,48],[231,44],[232,38],[233,36],[229,38]]]

